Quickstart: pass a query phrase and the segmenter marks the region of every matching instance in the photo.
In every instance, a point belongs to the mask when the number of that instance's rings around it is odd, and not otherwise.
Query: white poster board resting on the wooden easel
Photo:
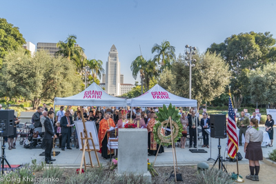
[[[83,123],[82,121],[74,121],[75,125],[76,125],[76,132],[77,132],[77,136],[78,136],[78,141],[79,141],[79,150],[82,149],[82,145],[81,145],[81,132],[83,134]],[[95,148],[96,150],[99,150],[99,138],[98,138],[98,132],[97,132],[97,128],[95,125],[94,121],[86,121],[86,131],[88,132],[88,137],[90,137],[90,132],[92,134],[92,138],[95,144]],[[84,143],[84,141],[83,141]],[[93,149],[93,144],[92,141],[88,141],[90,149]],[[87,147],[86,147],[87,148]]]

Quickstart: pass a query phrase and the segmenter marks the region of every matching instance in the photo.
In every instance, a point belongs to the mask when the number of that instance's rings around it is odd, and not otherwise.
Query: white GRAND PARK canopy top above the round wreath
[[[163,104],[168,106],[170,103],[176,107],[197,107],[196,100],[172,94],[158,84],[141,96],[128,99],[128,105],[131,107],[162,107]]]

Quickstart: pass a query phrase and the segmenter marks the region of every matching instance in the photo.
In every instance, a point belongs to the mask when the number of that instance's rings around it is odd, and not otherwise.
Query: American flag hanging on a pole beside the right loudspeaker
[[[227,134],[228,134],[228,155],[232,159],[235,158],[237,154],[237,150],[239,150],[239,147],[237,145],[238,137],[237,137],[237,127],[236,127],[235,117],[236,116],[233,109],[231,96],[229,96]]]

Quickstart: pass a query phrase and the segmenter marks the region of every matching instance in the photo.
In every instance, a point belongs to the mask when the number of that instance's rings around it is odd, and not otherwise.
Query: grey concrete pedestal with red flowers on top
[[[118,131],[117,174],[143,174],[151,181],[148,172],[148,130],[120,128]]]

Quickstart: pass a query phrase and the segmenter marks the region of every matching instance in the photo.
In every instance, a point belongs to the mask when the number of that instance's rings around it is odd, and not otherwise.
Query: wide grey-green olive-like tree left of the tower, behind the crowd
[[[41,100],[54,100],[81,90],[81,79],[72,61],[36,52],[33,57],[23,48],[5,57],[0,75],[0,94],[11,98],[22,96],[37,108]]]

